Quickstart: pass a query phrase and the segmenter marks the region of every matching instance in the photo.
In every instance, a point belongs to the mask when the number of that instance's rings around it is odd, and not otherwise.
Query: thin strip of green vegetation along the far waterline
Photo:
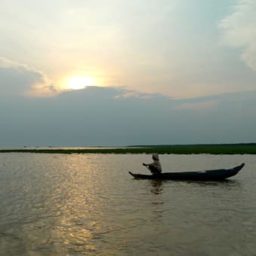
[[[15,148],[0,149],[0,153],[41,154],[256,154],[256,143],[219,145],[151,145],[126,148]]]

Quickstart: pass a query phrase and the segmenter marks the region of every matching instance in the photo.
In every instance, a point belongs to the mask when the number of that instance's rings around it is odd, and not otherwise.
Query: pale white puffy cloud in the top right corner
[[[242,60],[256,71],[256,2],[239,0],[230,15],[221,21],[224,41],[231,47],[239,47]]]

